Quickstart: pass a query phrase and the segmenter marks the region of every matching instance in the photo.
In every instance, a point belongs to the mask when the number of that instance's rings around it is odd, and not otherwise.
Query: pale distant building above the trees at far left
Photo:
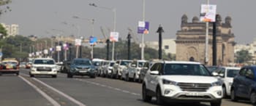
[[[1,25],[3,25],[5,30],[7,30],[7,37],[19,35],[19,25],[17,24],[7,25],[4,23],[1,23]]]

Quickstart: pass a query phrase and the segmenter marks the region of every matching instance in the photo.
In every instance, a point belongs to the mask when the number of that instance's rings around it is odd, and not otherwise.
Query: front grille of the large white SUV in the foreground
[[[206,91],[211,83],[178,83],[182,91]]]

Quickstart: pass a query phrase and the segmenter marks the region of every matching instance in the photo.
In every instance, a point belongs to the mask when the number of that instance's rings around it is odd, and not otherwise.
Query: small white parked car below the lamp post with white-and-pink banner
[[[103,71],[103,77],[110,77],[111,73],[113,72],[113,65],[115,64],[115,61],[106,61],[105,65],[102,68]]]

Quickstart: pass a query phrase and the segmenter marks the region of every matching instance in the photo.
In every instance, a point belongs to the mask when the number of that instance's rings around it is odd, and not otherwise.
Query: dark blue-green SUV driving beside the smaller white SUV
[[[86,58],[75,58],[71,62],[67,62],[67,78],[73,76],[89,76],[90,78],[96,77],[96,68],[91,60]]]

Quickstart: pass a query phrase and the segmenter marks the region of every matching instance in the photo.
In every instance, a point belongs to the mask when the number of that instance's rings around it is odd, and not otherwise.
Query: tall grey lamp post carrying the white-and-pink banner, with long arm
[[[89,4],[92,7],[99,7],[96,4]],[[110,8],[110,7],[99,7],[101,9],[108,9],[113,12],[113,32],[116,32],[116,8]],[[114,60],[114,51],[115,51],[115,41],[112,41],[112,60]]]

